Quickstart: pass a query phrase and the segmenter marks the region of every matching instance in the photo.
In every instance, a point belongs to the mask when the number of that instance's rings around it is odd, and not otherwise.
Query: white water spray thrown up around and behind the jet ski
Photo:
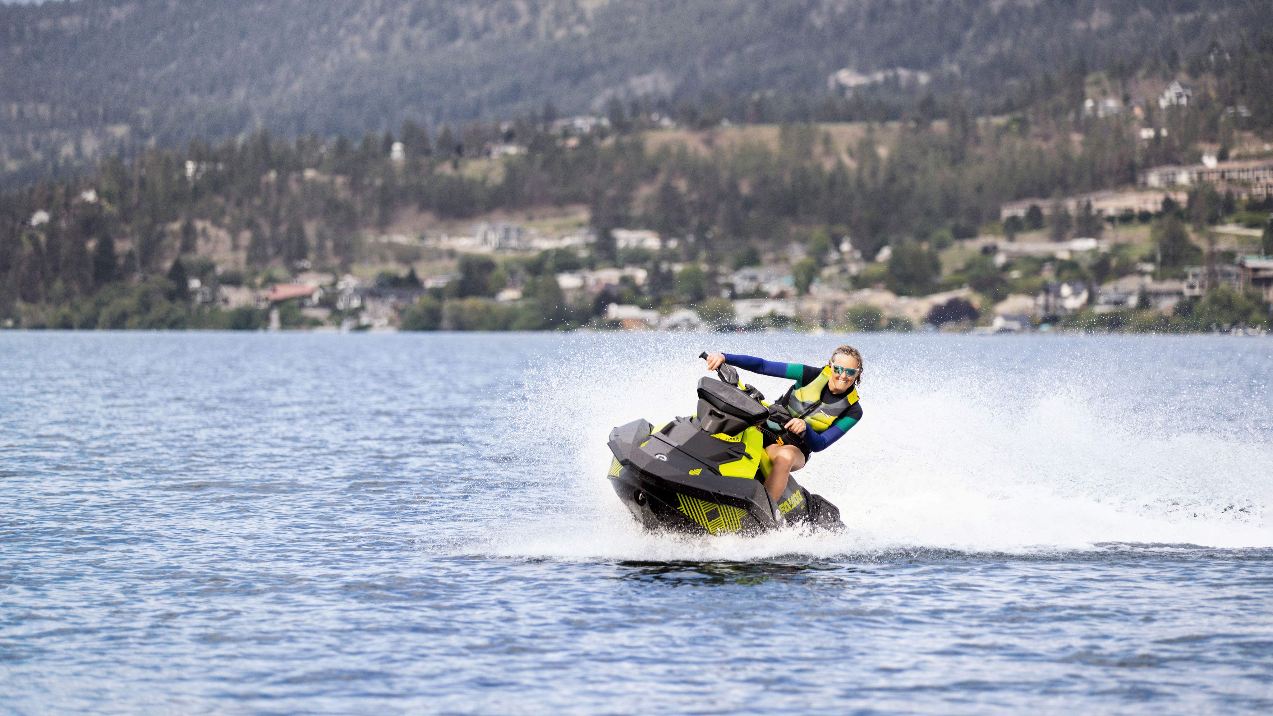
[[[858,341],[864,336],[855,336]],[[566,494],[489,545],[556,559],[729,561],[909,549],[1039,553],[1106,543],[1217,548],[1273,545],[1268,403],[1213,391],[1181,409],[1171,383],[1136,382],[1119,350],[1074,382],[1073,361],[1003,362],[980,345],[876,339],[867,352],[864,418],[798,474],[840,507],[841,534],[757,538],[649,534],[603,478],[606,436],[638,417],[687,414],[704,375],[694,357],[715,336],[591,336],[544,357],[518,428],[540,436],[546,492]],[[733,352],[774,358],[829,353],[803,336],[731,338]],[[1030,344],[1015,349],[1034,350]],[[834,343],[830,344],[834,348]],[[1100,348],[1100,347],[1096,347]],[[1164,369],[1171,358],[1162,357]],[[1091,350],[1085,361],[1090,363]],[[785,381],[747,375],[769,396]],[[1134,385],[1133,385],[1134,383]],[[1250,391],[1248,391],[1250,394]],[[1209,401],[1209,403],[1208,403]],[[1232,414],[1227,423],[1208,415]],[[1232,418],[1234,415],[1230,415]],[[1223,423],[1223,424],[1221,424]],[[558,426],[542,431],[536,427]]]

